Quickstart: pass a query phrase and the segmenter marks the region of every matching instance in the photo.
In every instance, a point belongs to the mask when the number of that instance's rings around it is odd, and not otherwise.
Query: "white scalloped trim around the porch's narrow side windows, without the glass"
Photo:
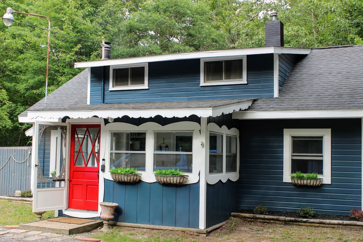
[[[205,173],[207,173],[207,182],[208,184],[216,184],[218,181],[226,182],[228,179],[231,181],[237,181],[240,177],[240,141],[239,141],[239,134],[240,132],[237,130],[237,128],[231,128],[228,130],[226,126],[222,126],[221,128],[215,124],[215,123],[209,123],[208,124],[208,130],[207,130],[207,136],[205,138],[206,141],[208,141],[208,145],[206,145],[206,149],[208,151],[208,154],[206,155],[206,163],[205,166]],[[219,134],[223,134],[223,173],[219,174],[209,174],[209,132],[215,132]],[[237,171],[236,172],[225,172],[225,138],[226,135],[236,136],[237,137]]]

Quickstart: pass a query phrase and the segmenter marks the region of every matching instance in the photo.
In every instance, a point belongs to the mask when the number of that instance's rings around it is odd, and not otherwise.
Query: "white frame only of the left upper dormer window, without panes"
[[[113,86],[113,70],[114,69],[130,69],[132,67],[145,67],[144,73],[144,85],[129,85],[129,86]],[[110,80],[109,80],[109,90],[117,91],[117,90],[137,90],[137,89],[149,89],[148,86],[148,62],[137,63],[137,64],[125,64],[125,65],[115,65],[110,66]]]

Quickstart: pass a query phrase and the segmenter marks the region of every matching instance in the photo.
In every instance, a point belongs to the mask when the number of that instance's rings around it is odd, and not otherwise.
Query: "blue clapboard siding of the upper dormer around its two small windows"
[[[273,54],[247,57],[247,84],[200,86],[200,59],[150,62],[146,90],[109,91],[105,67],[105,103],[166,102],[273,97]],[[91,68],[90,104],[101,102],[102,68]]]

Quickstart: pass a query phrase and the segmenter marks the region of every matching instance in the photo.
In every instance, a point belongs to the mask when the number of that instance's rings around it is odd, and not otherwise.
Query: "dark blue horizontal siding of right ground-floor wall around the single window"
[[[348,215],[362,206],[361,119],[241,120],[238,208]],[[243,127],[243,128],[242,128]],[[284,128],[331,128],[331,184],[282,182]]]

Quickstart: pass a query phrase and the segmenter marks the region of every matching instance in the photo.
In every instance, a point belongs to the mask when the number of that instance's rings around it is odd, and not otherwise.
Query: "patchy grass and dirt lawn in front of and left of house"
[[[49,211],[43,219],[53,216],[54,211]],[[0,227],[35,220],[31,204],[0,200]],[[79,236],[83,237],[82,234]],[[191,232],[128,227],[114,227],[107,233],[93,230],[86,237],[99,238],[103,242],[363,242],[363,228],[298,226],[230,218],[207,237]]]

